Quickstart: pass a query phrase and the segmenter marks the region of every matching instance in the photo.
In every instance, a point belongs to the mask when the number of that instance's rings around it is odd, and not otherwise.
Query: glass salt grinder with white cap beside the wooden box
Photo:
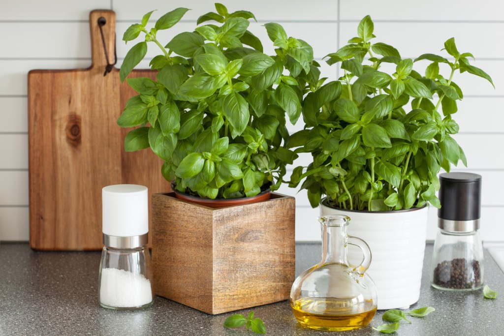
[[[102,189],[103,247],[98,279],[100,305],[131,310],[154,302],[147,187],[109,185]]]

